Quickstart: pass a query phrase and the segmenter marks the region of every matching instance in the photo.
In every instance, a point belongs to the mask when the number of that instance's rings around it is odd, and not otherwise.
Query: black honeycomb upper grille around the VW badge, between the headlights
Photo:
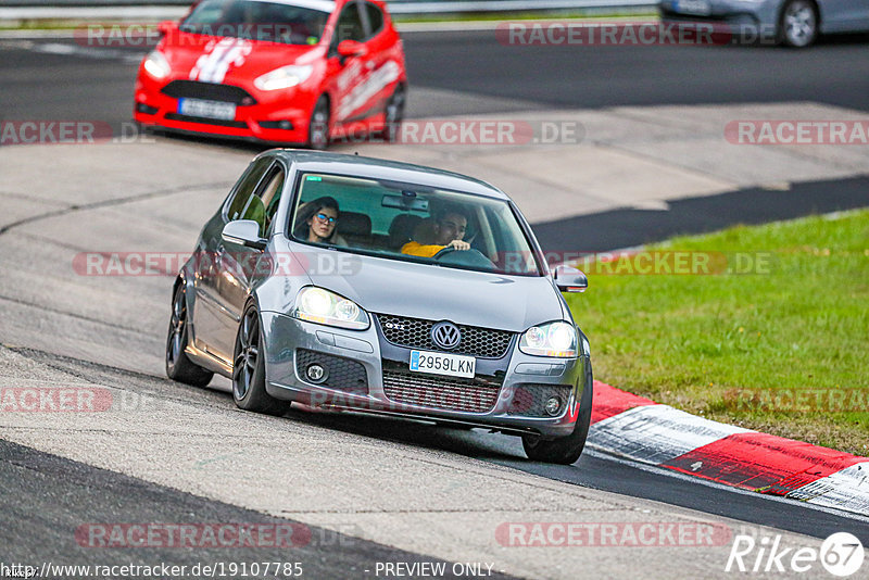
[[[383,337],[398,346],[411,349],[423,349],[427,351],[440,351],[431,341],[431,327],[436,320],[424,320],[421,318],[407,318],[405,316],[393,316],[391,314],[378,314],[380,328]],[[501,358],[507,353],[513,332],[506,330],[493,330],[477,326],[457,325],[462,332],[462,342],[450,352],[456,354],[467,354],[481,358]]]

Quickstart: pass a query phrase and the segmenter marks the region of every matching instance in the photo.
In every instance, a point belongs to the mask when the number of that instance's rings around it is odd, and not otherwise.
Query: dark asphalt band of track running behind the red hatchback
[[[494,30],[405,34],[412,86],[486,97],[484,112],[816,101],[869,111],[869,37],[832,37],[809,51],[773,47],[520,47]],[[10,40],[7,40],[10,42]],[[76,55],[3,50],[0,115],[129,121],[137,47],[67,45]],[[3,42],[0,41],[0,46]],[[8,45],[9,46],[9,45]],[[123,62],[127,55],[130,61]],[[72,60],[71,60],[72,59]],[[414,102],[411,115],[468,114],[467,102]]]

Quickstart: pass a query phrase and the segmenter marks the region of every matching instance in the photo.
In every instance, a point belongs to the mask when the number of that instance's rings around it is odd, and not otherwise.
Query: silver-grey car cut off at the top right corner
[[[869,31],[869,0],[662,0],[665,22],[708,22],[808,47],[820,34]]]

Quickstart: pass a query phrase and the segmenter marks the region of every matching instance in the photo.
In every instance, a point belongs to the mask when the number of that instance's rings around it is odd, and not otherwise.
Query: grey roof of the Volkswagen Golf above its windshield
[[[487,198],[509,200],[506,193],[482,181],[458,173],[436,169],[425,165],[402,163],[399,161],[347,155],[324,151],[301,149],[273,149],[266,151],[285,160],[302,172],[333,173],[390,181],[418,184],[420,186],[450,189],[466,193],[475,193]]]

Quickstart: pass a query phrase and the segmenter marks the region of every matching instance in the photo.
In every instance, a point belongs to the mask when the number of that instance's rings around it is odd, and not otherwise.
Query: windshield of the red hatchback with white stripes
[[[303,4],[303,5],[298,5]],[[322,4],[322,5],[320,5]],[[316,45],[323,36],[328,3],[203,0],[181,23],[186,33],[229,36],[285,45]]]

